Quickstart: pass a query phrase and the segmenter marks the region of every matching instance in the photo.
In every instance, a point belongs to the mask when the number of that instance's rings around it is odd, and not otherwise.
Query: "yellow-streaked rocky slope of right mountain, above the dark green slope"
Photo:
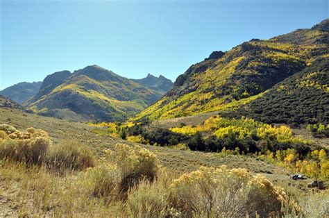
[[[285,78],[317,65],[317,58],[328,58],[328,23],[216,51],[178,76],[165,97],[134,119],[236,111]]]

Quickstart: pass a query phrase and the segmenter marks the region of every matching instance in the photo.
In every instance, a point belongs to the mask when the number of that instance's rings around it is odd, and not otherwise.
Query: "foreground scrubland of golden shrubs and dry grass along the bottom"
[[[0,130],[1,217],[329,215],[328,190],[280,187],[247,169],[222,165],[184,174],[137,144],[117,143],[97,154],[78,141],[54,144],[37,128],[1,124]]]

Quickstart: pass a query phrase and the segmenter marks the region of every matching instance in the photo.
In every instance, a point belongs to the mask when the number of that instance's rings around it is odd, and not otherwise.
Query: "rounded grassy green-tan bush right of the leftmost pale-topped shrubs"
[[[77,141],[63,141],[48,153],[48,164],[57,169],[85,169],[94,167],[95,153]]]

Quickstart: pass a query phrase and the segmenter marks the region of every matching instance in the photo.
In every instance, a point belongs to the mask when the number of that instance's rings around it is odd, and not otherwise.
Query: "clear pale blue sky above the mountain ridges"
[[[328,0],[0,1],[0,90],[94,64],[174,81],[212,51],[329,17]]]

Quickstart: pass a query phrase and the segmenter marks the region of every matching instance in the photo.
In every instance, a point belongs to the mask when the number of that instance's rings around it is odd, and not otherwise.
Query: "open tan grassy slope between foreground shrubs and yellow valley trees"
[[[42,117],[33,115],[20,110],[0,109],[0,123],[10,124],[15,128],[22,130],[28,127],[40,128],[49,133],[55,144],[62,140],[74,139],[82,144],[90,146],[99,155],[102,155],[104,149],[113,149],[117,143],[128,143],[119,137],[110,137],[107,135],[96,135],[92,133],[92,126],[78,122],[55,119],[52,117]],[[200,166],[221,166],[244,167],[255,173],[262,171],[273,171],[280,174],[283,178],[287,177],[288,172],[267,162],[255,160],[254,158],[239,158],[238,156],[219,157],[214,153],[203,153],[198,151],[180,151],[159,146],[148,146],[141,144],[158,156],[161,164],[168,169],[179,172],[193,171]]]

